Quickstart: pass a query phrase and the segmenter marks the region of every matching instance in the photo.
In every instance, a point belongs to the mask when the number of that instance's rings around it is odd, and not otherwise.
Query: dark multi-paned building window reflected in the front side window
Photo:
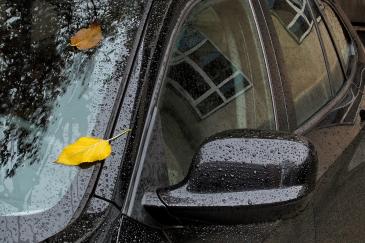
[[[243,72],[191,27],[182,31],[168,77],[201,119],[251,87]]]

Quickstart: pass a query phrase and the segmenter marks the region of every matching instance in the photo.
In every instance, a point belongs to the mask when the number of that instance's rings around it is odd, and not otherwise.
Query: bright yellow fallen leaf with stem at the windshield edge
[[[108,158],[112,152],[110,142],[120,136],[130,132],[125,130],[121,134],[108,139],[94,137],[82,137],[75,143],[66,146],[57,159],[57,163],[64,165],[80,165],[82,163],[92,163]]]

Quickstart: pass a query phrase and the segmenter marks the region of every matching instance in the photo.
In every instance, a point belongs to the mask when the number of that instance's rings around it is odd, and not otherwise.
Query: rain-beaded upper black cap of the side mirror
[[[309,192],[317,163],[313,145],[302,137],[250,129],[225,131],[202,144],[187,190],[214,193],[303,185]]]

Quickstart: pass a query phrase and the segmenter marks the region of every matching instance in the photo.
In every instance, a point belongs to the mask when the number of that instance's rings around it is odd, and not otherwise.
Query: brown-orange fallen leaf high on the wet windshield
[[[103,39],[101,27],[98,23],[91,24],[88,28],[83,28],[76,32],[70,39],[70,45],[79,50],[87,50],[96,47]]]

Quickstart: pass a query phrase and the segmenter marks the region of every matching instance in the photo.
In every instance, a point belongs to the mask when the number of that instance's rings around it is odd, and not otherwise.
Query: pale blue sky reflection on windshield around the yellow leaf
[[[78,55],[75,60],[87,61],[85,57]],[[82,60],[84,59],[84,60]],[[42,155],[38,163],[32,166],[18,168],[14,177],[2,179],[0,185],[1,210],[0,215],[17,211],[33,211],[45,209],[47,205],[55,205],[61,198],[73,177],[78,171],[78,167],[66,167],[52,163],[57,159],[58,153],[64,146],[73,142],[78,137],[89,134],[93,127],[89,121],[95,121],[96,103],[100,102],[100,95],[97,90],[103,90],[103,82],[95,82],[96,79],[89,79],[90,84],[82,80],[88,73],[73,77],[72,83],[62,97],[57,99],[57,105],[50,116],[50,125],[41,136],[38,146],[39,154]],[[94,81],[94,82],[93,82]],[[87,86],[92,87],[85,92]],[[99,98],[99,100],[98,100]],[[34,132],[38,132],[35,130]],[[11,149],[11,147],[9,147]],[[29,161],[22,164],[29,165]],[[16,159],[15,159],[16,160]],[[6,167],[12,166],[13,161]],[[14,161],[15,162],[15,161]],[[1,170],[1,178],[4,178],[5,168]]]

